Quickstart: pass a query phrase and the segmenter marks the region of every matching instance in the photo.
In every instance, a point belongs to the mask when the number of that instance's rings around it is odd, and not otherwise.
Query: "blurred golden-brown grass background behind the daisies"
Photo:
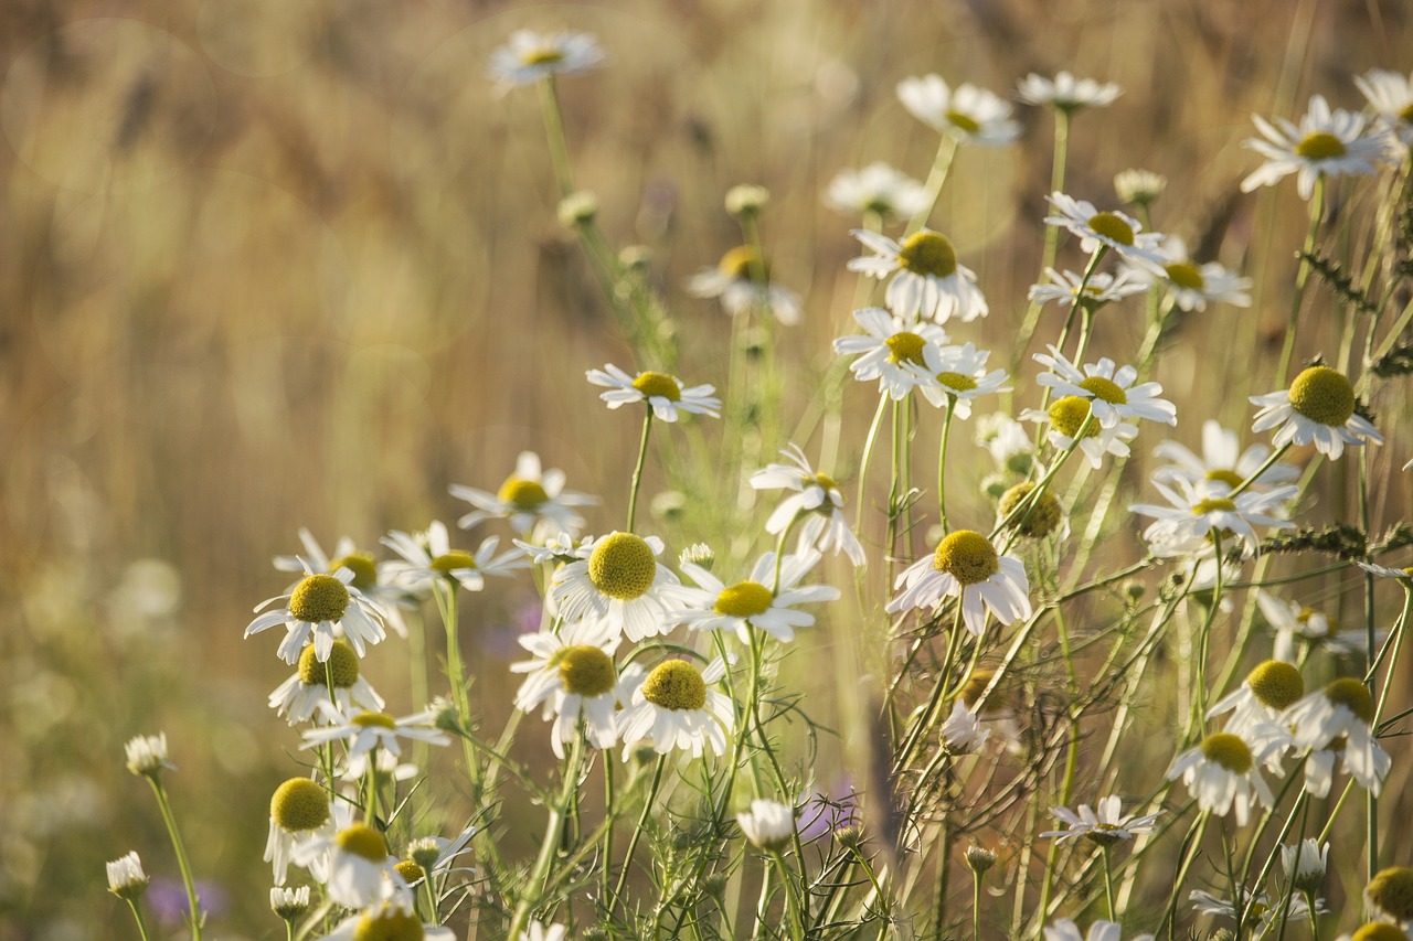
[[[147,788],[122,764],[127,738],[162,729],[195,869],[225,897],[215,935],[274,937],[266,801],[297,738],[264,705],[288,673],[273,641],[240,632],[284,588],[268,560],[298,548],[300,526],[325,547],[349,534],[374,548],[389,528],[454,519],[447,485],[493,489],[521,448],[605,493],[591,530],[616,523],[637,425],[605,414],[584,370],[630,353],[555,223],[533,92],[497,96],[485,76],[520,27],[586,30],[605,47],[605,68],[560,86],[577,177],[610,239],[651,250],[680,373],[718,387],[728,321],[680,285],[739,242],[728,187],[771,191],[773,277],[807,304],[781,356],[808,390],[856,281],[844,270],[853,223],[821,191],[873,160],[921,178],[933,155],[899,79],[935,71],[1003,95],[1029,71],[1119,82],[1113,107],[1078,119],[1067,189],[1112,205],[1116,171],[1163,172],[1157,227],[1258,278],[1255,308],[1188,318],[1159,370],[1190,445],[1201,418],[1249,421],[1234,390],[1279,350],[1304,230],[1290,185],[1236,192],[1256,162],[1239,147],[1249,114],[1299,114],[1313,92],[1358,109],[1351,75],[1413,65],[1402,0],[8,0],[4,941],[131,937],[102,863],[137,849],[150,875],[175,875]],[[1037,277],[1050,167],[1048,117],[1019,116],[1016,147],[962,151],[934,216],[992,307],[958,335],[1002,362]],[[1101,321],[1094,349],[1122,357],[1140,335]],[[1332,338],[1311,332],[1297,352],[1332,355]],[[1388,523],[1410,504],[1407,475],[1388,472],[1413,434],[1403,403],[1375,407]],[[851,421],[856,458],[866,414]],[[1327,499],[1316,516],[1344,511]],[[526,591],[468,605],[465,623],[489,639],[476,664],[487,701],[509,704]],[[410,711],[400,680],[370,670]]]

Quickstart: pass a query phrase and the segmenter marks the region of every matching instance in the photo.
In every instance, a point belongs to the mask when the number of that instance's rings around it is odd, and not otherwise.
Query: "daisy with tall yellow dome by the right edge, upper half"
[[[1359,446],[1365,441],[1383,444],[1383,435],[1364,415],[1355,414],[1354,386],[1328,366],[1311,366],[1290,383],[1290,389],[1252,396],[1260,406],[1252,421],[1252,431],[1277,428],[1272,442],[1314,444],[1331,461],[1344,454],[1344,446]]]

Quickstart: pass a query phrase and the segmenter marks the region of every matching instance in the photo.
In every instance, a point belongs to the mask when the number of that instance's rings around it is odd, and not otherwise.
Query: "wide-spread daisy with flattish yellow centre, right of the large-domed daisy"
[[[773,591],[774,552],[762,555],[746,581],[735,585],[726,585],[705,568],[685,562],[682,572],[699,588],[682,588],[687,608],[673,612],[671,619],[697,630],[735,630],[743,644],[750,643],[752,626],[780,643],[788,643],[794,640],[796,627],[814,625],[814,615],[794,610],[794,605],[839,598],[839,589],[831,585],[798,586],[818,561],[815,550],[786,555],[780,564],[780,584]]]

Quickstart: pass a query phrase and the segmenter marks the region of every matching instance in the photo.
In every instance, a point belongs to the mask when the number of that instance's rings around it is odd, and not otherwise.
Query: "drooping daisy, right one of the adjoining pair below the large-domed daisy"
[[[630,704],[619,712],[623,760],[644,739],[651,739],[658,754],[682,749],[701,757],[708,745],[715,754],[725,754],[735,706],[711,688],[725,675],[726,663],[718,657],[705,671],[685,660],[666,660],[636,680]]]

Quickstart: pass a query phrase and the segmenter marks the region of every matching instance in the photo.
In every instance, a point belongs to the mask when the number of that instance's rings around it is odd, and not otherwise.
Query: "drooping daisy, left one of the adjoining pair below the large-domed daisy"
[[[558,634],[520,637],[533,658],[510,664],[512,673],[527,674],[516,692],[516,708],[530,712],[544,705],[544,718],[554,718],[550,745],[557,757],[564,757],[581,718],[591,746],[606,749],[617,742],[615,711],[626,702],[613,664],[619,640],[617,625],[598,620],[571,622]]]

